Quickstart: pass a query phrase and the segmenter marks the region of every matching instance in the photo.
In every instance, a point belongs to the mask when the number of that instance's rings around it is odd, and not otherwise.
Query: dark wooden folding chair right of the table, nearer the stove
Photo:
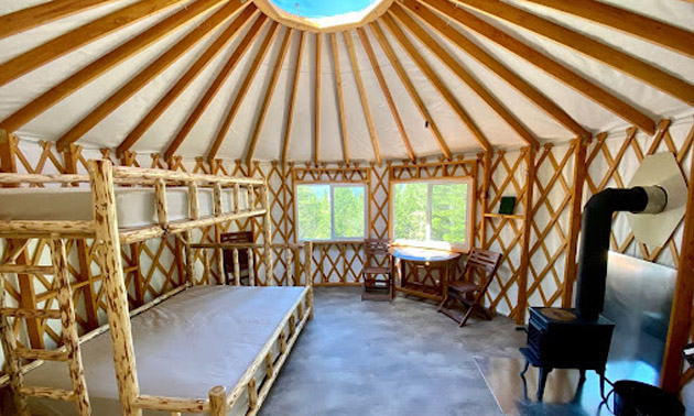
[[[448,294],[438,306],[438,311],[458,322],[460,327],[465,326],[475,310],[479,311],[486,319],[491,319],[491,315],[481,306],[481,303],[500,261],[500,253],[473,249],[460,278],[448,282]],[[479,276],[479,284],[475,283],[476,275]],[[455,300],[467,307],[467,311],[462,318],[459,314],[448,307],[448,303]]]

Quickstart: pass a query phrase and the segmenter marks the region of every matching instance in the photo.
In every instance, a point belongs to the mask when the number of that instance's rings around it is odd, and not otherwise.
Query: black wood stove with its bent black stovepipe
[[[615,325],[603,317],[607,280],[607,254],[612,216],[617,211],[654,214],[666,204],[660,187],[605,189],[584,207],[576,308],[530,308],[528,344],[520,351],[525,368],[540,369],[538,399],[542,399],[547,374],[553,369],[586,370],[600,375],[604,395],[605,366]]]

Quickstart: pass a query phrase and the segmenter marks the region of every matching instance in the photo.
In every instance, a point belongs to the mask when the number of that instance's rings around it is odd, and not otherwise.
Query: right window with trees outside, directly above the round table
[[[411,245],[469,248],[469,178],[393,182],[391,236]]]

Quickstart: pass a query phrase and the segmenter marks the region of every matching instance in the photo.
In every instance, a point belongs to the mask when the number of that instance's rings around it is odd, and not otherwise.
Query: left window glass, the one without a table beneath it
[[[366,206],[361,184],[296,185],[299,239],[362,239]]]

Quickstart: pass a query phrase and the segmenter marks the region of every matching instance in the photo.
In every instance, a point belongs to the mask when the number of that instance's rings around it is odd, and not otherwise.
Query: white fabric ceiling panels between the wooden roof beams
[[[230,2],[240,0],[228,0]],[[90,42],[0,87],[0,120],[4,120],[63,79],[69,77],[87,64],[112,51],[121,43],[142,33],[153,24],[163,21],[182,8],[194,1],[182,1],[169,7],[151,17],[133,24],[124,25],[97,41]],[[665,47],[637,39],[614,29],[588,20],[565,14],[525,0],[507,0],[509,4],[530,11],[551,21],[560,23],[571,30],[586,34],[604,44],[639,57],[655,67],[666,70],[690,84],[694,83],[694,61],[691,56],[679,54]],[[621,2],[609,0],[621,8],[628,8],[637,13],[648,15],[672,25],[686,29],[694,21],[694,3],[673,0],[639,0]],[[40,4],[42,1],[0,0],[0,13],[8,14],[22,8]],[[0,40],[0,62],[7,62],[51,39],[67,33],[85,23],[122,9],[134,0],[104,1],[104,4],[57,21],[21,32]],[[226,1],[200,13],[193,21],[180,26],[149,47],[140,51],[119,65],[109,69],[98,78],[91,80],[80,89],[68,95],[56,105],[42,112],[15,132],[22,138],[55,141],[73,125],[89,114],[102,101],[120,89],[131,77],[145,68],[166,50],[175,45],[187,33],[199,25],[205,19],[223,7]],[[635,106],[652,120],[662,118],[680,118],[692,112],[692,106],[685,103],[654,87],[651,87],[626,73],[611,68],[592,57],[582,55],[572,48],[555,43],[531,32],[513,25],[507,21],[485,14],[473,8],[458,4],[460,8],[478,15],[496,28],[514,36],[523,43],[542,51],[547,56],[572,68],[584,78],[601,86],[623,101]],[[506,48],[497,45],[470,29],[462,26],[436,12],[456,31],[464,34],[475,44],[484,48],[513,69],[521,78],[543,92],[566,113],[574,118],[582,127],[593,133],[623,129],[629,123],[615,113],[590,100],[583,94],[555,79],[541,68],[528,63]],[[237,13],[238,15],[238,13]],[[258,19],[259,12],[252,20]],[[105,117],[98,124],[82,135],[77,141],[86,147],[117,147],[130,131],[140,122],[148,111],[166,94],[188,67],[205,52],[216,37],[235,20],[236,15],[209,31],[207,35],[184,53],[169,68],[162,72],[141,90],[137,91],[122,106]],[[435,124],[442,132],[447,145],[454,153],[477,151],[480,147],[469,129],[442,98],[438,90],[419,69],[408,53],[400,46],[382,21],[377,21],[392,45],[399,62],[403,65],[408,76],[412,79],[418,92],[422,97],[426,109],[432,114]],[[441,77],[444,85],[458,100],[463,108],[479,125],[481,132],[495,147],[516,147],[524,145],[521,136],[511,129],[499,116],[481,100],[466,84],[451,72],[438,58],[422,44],[411,32],[399,23],[408,33],[409,40],[420,52],[431,68]],[[175,102],[147,130],[142,138],[131,147],[139,153],[164,152],[173,136],[195,108],[199,97],[227,63],[236,46],[248,32],[251,24],[246,24],[229,42],[212,63],[188,85]],[[257,55],[270,24],[265,24],[261,34],[254,40],[249,51],[225,81],[221,89],[213,99],[209,107],[199,118],[176,154],[183,156],[205,156],[219,130],[221,120],[235,100],[253,57]],[[448,42],[438,33],[424,28],[448,53],[451,53],[469,74],[482,84],[497,99],[502,102],[517,119],[540,141],[566,141],[575,133],[568,131],[528,98],[519,94],[502,78],[479,64],[459,47]],[[240,109],[227,132],[217,153],[217,157],[246,157],[246,150],[259,117],[261,102],[268,89],[273,72],[280,44],[288,28],[280,28],[268,54],[264,56],[253,83],[246,94]],[[373,47],[378,64],[382,70],[390,92],[397,105],[412,147],[416,156],[441,154],[437,142],[432,134],[431,127],[420,114],[416,106],[402,86],[395,69],[381,48],[371,28],[366,30]],[[321,123],[319,123],[319,154],[322,162],[339,162],[344,160],[340,119],[337,103],[337,85],[333,48],[328,34],[323,34],[321,48]],[[349,59],[348,48],[344,36],[351,36],[355,45],[359,75],[364,80],[366,99],[369,111],[373,116],[375,133],[378,138],[380,155],[383,160],[406,158],[408,152],[401,134],[386,101],[377,76],[371,67],[362,43],[355,30],[337,34],[339,69],[345,99],[345,122],[348,136],[349,156],[353,161],[373,161],[375,152],[371,145],[369,129],[365,111],[359,99],[357,81]],[[299,48],[300,32],[291,33],[290,47],[282,63],[274,94],[272,95],[269,112],[262,123],[259,141],[253,158],[272,161],[281,157],[281,149],[286,125],[286,114],[290,92],[293,86],[294,68]],[[314,160],[314,117],[315,117],[315,63],[316,35],[305,36],[304,54],[301,62],[301,75],[297,84],[295,111],[289,136],[290,161]],[[0,122],[0,128],[2,122]]]

